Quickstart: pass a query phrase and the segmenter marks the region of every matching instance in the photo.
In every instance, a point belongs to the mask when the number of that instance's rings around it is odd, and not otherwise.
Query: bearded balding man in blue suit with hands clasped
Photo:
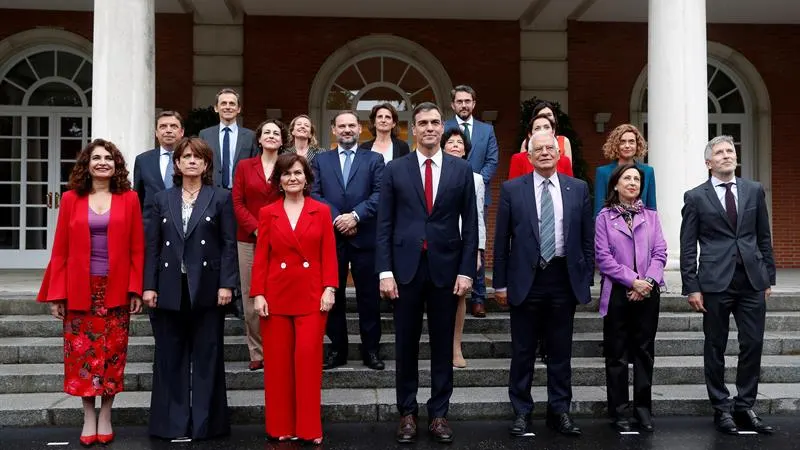
[[[375,223],[378,212],[383,157],[358,149],[361,126],[353,111],[341,111],[331,122],[339,143],[336,151],[321,152],[311,163],[314,171],[312,194],[331,208],[336,231],[339,260],[339,286],[336,303],[328,313],[327,332],[331,339],[325,369],[347,364],[347,286],[353,274],[361,331],[361,358],[364,365],[383,370],[378,356],[381,339],[378,274],[375,273]]]

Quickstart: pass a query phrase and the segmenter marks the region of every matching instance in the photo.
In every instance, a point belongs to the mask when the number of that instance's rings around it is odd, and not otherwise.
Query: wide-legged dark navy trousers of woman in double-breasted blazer
[[[224,321],[222,308],[192,309],[185,275],[181,310],[151,310],[156,343],[151,435],[208,439],[230,433]]]

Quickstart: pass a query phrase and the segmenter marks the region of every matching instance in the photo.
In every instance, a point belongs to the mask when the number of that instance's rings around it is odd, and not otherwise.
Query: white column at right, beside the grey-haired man
[[[667,287],[680,292],[683,193],[707,178],[705,0],[650,0],[648,55],[648,161],[668,245]]]

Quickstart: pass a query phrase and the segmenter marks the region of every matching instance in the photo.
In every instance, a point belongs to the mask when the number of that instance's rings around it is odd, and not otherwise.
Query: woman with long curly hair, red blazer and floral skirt
[[[64,322],[64,392],[83,397],[85,446],[114,439],[130,313],[142,308],[144,229],[122,153],[95,139],[78,154],[37,301]],[[95,397],[100,396],[100,414]]]

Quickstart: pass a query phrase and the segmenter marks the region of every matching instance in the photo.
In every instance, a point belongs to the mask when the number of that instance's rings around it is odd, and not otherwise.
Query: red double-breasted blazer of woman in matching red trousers
[[[282,201],[261,208],[250,297],[265,296],[270,314],[318,312],[323,289],[339,284],[338,271],[328,205],[306,197],[294,230]]]

